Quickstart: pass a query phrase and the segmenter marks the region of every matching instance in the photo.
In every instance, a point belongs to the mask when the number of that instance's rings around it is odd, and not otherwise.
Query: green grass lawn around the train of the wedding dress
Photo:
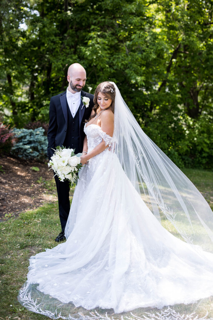
[[[186,169],[184,173],[193,181],[196,187],[212,205],[213,196],[213,172]],[[54,181],[49,183],[51,192]],[[33,211],[23,212],[19,217],[0,224],[0,319],[49,319],[46,316],[32,313],[22,307],[17,295],[22,284],[27,279],[28,259],[31,255],[52,248],[57,245],[54,241],[60,231],[57,202],[47,204]],[[209,311],[209,317],[213,317],[213,299],[207,298],[194,305],[176,305],[175,310],[183,313],[196,312],[199,316],[205,316]],[[137,309],[138,316],[150,312],[147,308]],[[152,312],[159,311],[152,309]],[[128,313],[128,316],[131,316]],[[114,316],[120,319],[120,315]]]

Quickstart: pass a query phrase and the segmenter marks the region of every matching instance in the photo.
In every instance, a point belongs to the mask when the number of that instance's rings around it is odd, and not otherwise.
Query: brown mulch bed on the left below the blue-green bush
[[[32,170],[32,167],[38,167],[39,171]],[[0,220],[35,209],[44,202],[56,201],[56,190],[50,194],[44,188],[44,180],[52,178],[53,171],[48,171],[47,164],[23,162],[9,156],[1,156]]]

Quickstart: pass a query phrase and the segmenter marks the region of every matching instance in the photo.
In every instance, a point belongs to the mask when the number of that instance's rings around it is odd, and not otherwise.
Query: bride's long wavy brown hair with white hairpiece
[[[105,96],[112,100],[112,103],[110,105],[112,112],[114,113],[115,108],[115,87],[113,84],[109,83],[108,81],[104,81],[100,83],[97,88],[95,89],[94,93],[94,107],[93,110],[95,111],[94,115],[90,116],[88,120],[85,122],[90,121],[92,118],[94,118],[97,115],[97,109],[99,108],[99,104],[97,102],[98,93],[101,92],[102,94],[105,94]],[[109,107],[109,108],[110,108]]]

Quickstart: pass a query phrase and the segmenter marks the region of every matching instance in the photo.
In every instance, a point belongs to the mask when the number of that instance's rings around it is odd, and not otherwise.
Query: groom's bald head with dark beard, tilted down
[[[72,93],[79,92],[84,87],[87,80],[86,70],[79,63],[73,63],[68,68],[67,81],[68,90]]]

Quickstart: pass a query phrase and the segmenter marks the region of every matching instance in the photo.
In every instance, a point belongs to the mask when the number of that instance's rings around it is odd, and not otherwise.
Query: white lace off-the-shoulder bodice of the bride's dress
[[[102,142],[102,139],[105,141],[105,146],[111,146],[112,137],[103,132],[101,127],[97,124],[89,124],[85,123],[84,125],[84,132],[87,135],[87,145],[88,145],[88,152],[94,149],[99,143]]]

